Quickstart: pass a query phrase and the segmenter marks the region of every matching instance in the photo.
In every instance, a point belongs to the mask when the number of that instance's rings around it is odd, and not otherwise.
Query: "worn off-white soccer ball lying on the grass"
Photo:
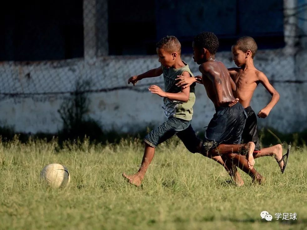
[[[53,188],[65,188],[70,183],[70,174],[67,168],[60,164],[50,164],[40,172],[40,178]]]

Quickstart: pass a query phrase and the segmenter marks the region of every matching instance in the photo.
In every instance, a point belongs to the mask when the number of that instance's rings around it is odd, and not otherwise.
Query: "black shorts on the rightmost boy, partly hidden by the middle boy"
[[[254,152],[260,152],[260,141],[258,138],[257,116],[251,106],[245,108],[247,119],[242,133],[243,143],[252,141],[255,143]]]

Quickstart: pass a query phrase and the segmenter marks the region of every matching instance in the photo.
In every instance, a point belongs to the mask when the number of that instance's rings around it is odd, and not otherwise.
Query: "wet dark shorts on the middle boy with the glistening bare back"
[[[232,107],[217,107],[206,130],[201,153],[207,153],[220,144],[240,144],[246,118],[240,103]]]

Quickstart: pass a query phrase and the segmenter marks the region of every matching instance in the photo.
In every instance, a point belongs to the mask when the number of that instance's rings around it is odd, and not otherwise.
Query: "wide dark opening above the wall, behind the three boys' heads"
[[[190,54],[202,31],[216,33],[219,51],[246,35],[259,49],[284,47],[283,0],[119,0],[109,1],[108,14],[111,55],[156,54],[155,44],[166,35]]]

